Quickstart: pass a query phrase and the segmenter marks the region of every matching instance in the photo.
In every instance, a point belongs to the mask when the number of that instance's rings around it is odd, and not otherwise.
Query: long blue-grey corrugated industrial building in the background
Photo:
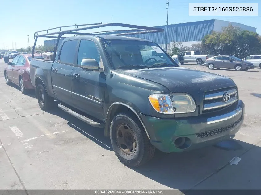
[[[180,24],[170,24],[168,25],[167,33],[167,49],[170,48],[171,42],[182,42],[183,46],[191,46],[193,43],[200,43],[205,35],[211,34],[213,30],[221,31],[223,27],[228,26],[229,24],[232,24],[233,26],[239,26],[242,30],[256,32],[256,28],[251,26],[216,19],[203,20],[198,22],[186,22]],[[165,48],[166,25],[154,27],[163,28],[165,31],[161,33],[148,33],[126,36],[148,39],[154,41],[162,48]],[[44,41],[44,46],[54,46],[56,44],[56,41],[57,39]]]

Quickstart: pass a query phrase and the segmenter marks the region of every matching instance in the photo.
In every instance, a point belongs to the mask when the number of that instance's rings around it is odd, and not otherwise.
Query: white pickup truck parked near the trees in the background
[[[201,52],[198,50],[191,51],[179,51],[178,55],[173,55],[172,58],[177,58],[180,64],[185,62],[196,62],[197,65],[203,64],[206,59],[213,57],[213,55],[201,55]]]

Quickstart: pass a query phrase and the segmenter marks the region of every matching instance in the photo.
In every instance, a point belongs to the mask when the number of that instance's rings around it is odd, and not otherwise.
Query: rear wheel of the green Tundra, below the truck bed
[[[41,84],[36,88],[36,97],[42,110],[48,111],[53,108],[54,99],[47,95],[44,86]]]

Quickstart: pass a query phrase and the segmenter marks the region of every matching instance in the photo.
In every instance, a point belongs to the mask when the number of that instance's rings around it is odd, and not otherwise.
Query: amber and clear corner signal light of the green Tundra
[[[173,106],[169,95],[152,94],[149,96],[149,102],[159,113],[174,114]]]

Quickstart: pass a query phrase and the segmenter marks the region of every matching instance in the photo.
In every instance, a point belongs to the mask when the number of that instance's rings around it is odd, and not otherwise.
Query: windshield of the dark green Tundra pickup
[[[114,69],[178,66],[160,47],[149,41],[103,40]]]

